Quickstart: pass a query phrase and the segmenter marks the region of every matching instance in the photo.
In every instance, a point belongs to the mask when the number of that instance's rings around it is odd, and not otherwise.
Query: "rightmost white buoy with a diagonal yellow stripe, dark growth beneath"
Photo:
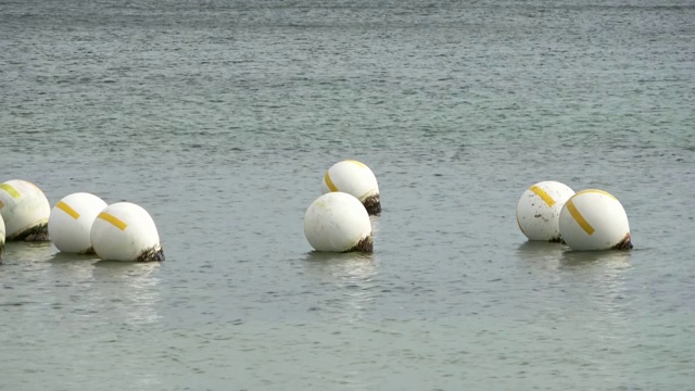
[[[582,190],[567,200],[559,227],[563,240],[572,250],[632,249],[626,210],[603,190]]]

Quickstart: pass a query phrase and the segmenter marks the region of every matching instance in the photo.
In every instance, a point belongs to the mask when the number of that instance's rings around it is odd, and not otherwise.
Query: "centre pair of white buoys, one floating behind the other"
[[[374,172],[355,160],[333,164],[304,215],[304,236],[320,252],[372,252],[370,215],[381,213]]]

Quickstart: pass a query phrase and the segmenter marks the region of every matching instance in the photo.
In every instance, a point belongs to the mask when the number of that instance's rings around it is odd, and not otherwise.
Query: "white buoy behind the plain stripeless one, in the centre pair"
[[[324,175],[321,192],[340,191],[356,197],[370,215],[381,212],[377,177],[364,163],[345,160],[333,164]]]

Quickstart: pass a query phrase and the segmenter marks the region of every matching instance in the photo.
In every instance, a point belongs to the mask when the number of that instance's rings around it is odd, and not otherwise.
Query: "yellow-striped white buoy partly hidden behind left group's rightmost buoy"
[[[55,248],[65,253],[93,253],[91,225],[104,207],[106,203],[102,199],[86,192],[58,201],[48,219],[48,234]]]

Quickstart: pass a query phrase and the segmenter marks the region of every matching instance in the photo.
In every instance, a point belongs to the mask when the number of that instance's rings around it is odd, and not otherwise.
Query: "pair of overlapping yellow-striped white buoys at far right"
[[[517,224],[529,240],[560,242],[577,251],[630,250],[630,224],[616,197],[598,189],[574,192],[545,180],[523,191]]]

